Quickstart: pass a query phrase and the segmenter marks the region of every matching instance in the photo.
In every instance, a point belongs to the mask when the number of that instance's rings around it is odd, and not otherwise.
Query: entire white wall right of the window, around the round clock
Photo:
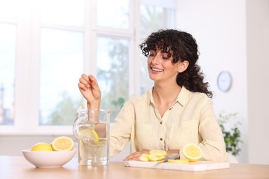
[[[239,114],[243,145],[237,159],[269,164],[269,144],[257,140],[261,135],[269,136],[268,121],[265,121],[268,82],[264,82],[265,76],[269,76],[266,71],[268,0],[177,0],[177,9],[177,28],[197,39],[201,52],[199,64],[215,92],[216,113]],[[260,52],[258,56],[257,52]],[[226,93],[220,92],[216,83],[217,75],[223,70],[232,74],[232,88]],[[256,91],[259,91],[258,98]],[[258,146],[263,147],[257,149]],[[263,158],[257,157],[257,151]]]

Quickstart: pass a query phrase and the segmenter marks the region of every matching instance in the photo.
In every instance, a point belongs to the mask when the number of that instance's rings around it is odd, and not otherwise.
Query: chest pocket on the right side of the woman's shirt
[[[170,149],[181,149],[188,143],[198,143],[198,120],[185,120],[173,125],[170,134]]]

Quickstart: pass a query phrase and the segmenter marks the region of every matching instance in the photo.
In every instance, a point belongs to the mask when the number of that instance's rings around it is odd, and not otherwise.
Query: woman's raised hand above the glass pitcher
[[[91,74],[82,74],[79,78],[79,91],[87,100],[88,109],[99,109],[101,104],[101,91],[97,79]]]

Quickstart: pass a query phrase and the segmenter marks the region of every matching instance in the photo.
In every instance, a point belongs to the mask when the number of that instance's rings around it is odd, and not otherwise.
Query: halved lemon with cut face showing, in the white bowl
[[[52,141],[51,146],[54,151],[70,151],[74,148],[74,141],[72,140],[72,138],[61,136],[55,138]]]

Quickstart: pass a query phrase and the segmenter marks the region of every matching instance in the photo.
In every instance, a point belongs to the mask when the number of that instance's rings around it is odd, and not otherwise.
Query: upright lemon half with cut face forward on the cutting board
[[[195,162],[201,158],[202,151],[199,145],[190,143],[183,147],[183,155],[190,160],[190,162]]]

